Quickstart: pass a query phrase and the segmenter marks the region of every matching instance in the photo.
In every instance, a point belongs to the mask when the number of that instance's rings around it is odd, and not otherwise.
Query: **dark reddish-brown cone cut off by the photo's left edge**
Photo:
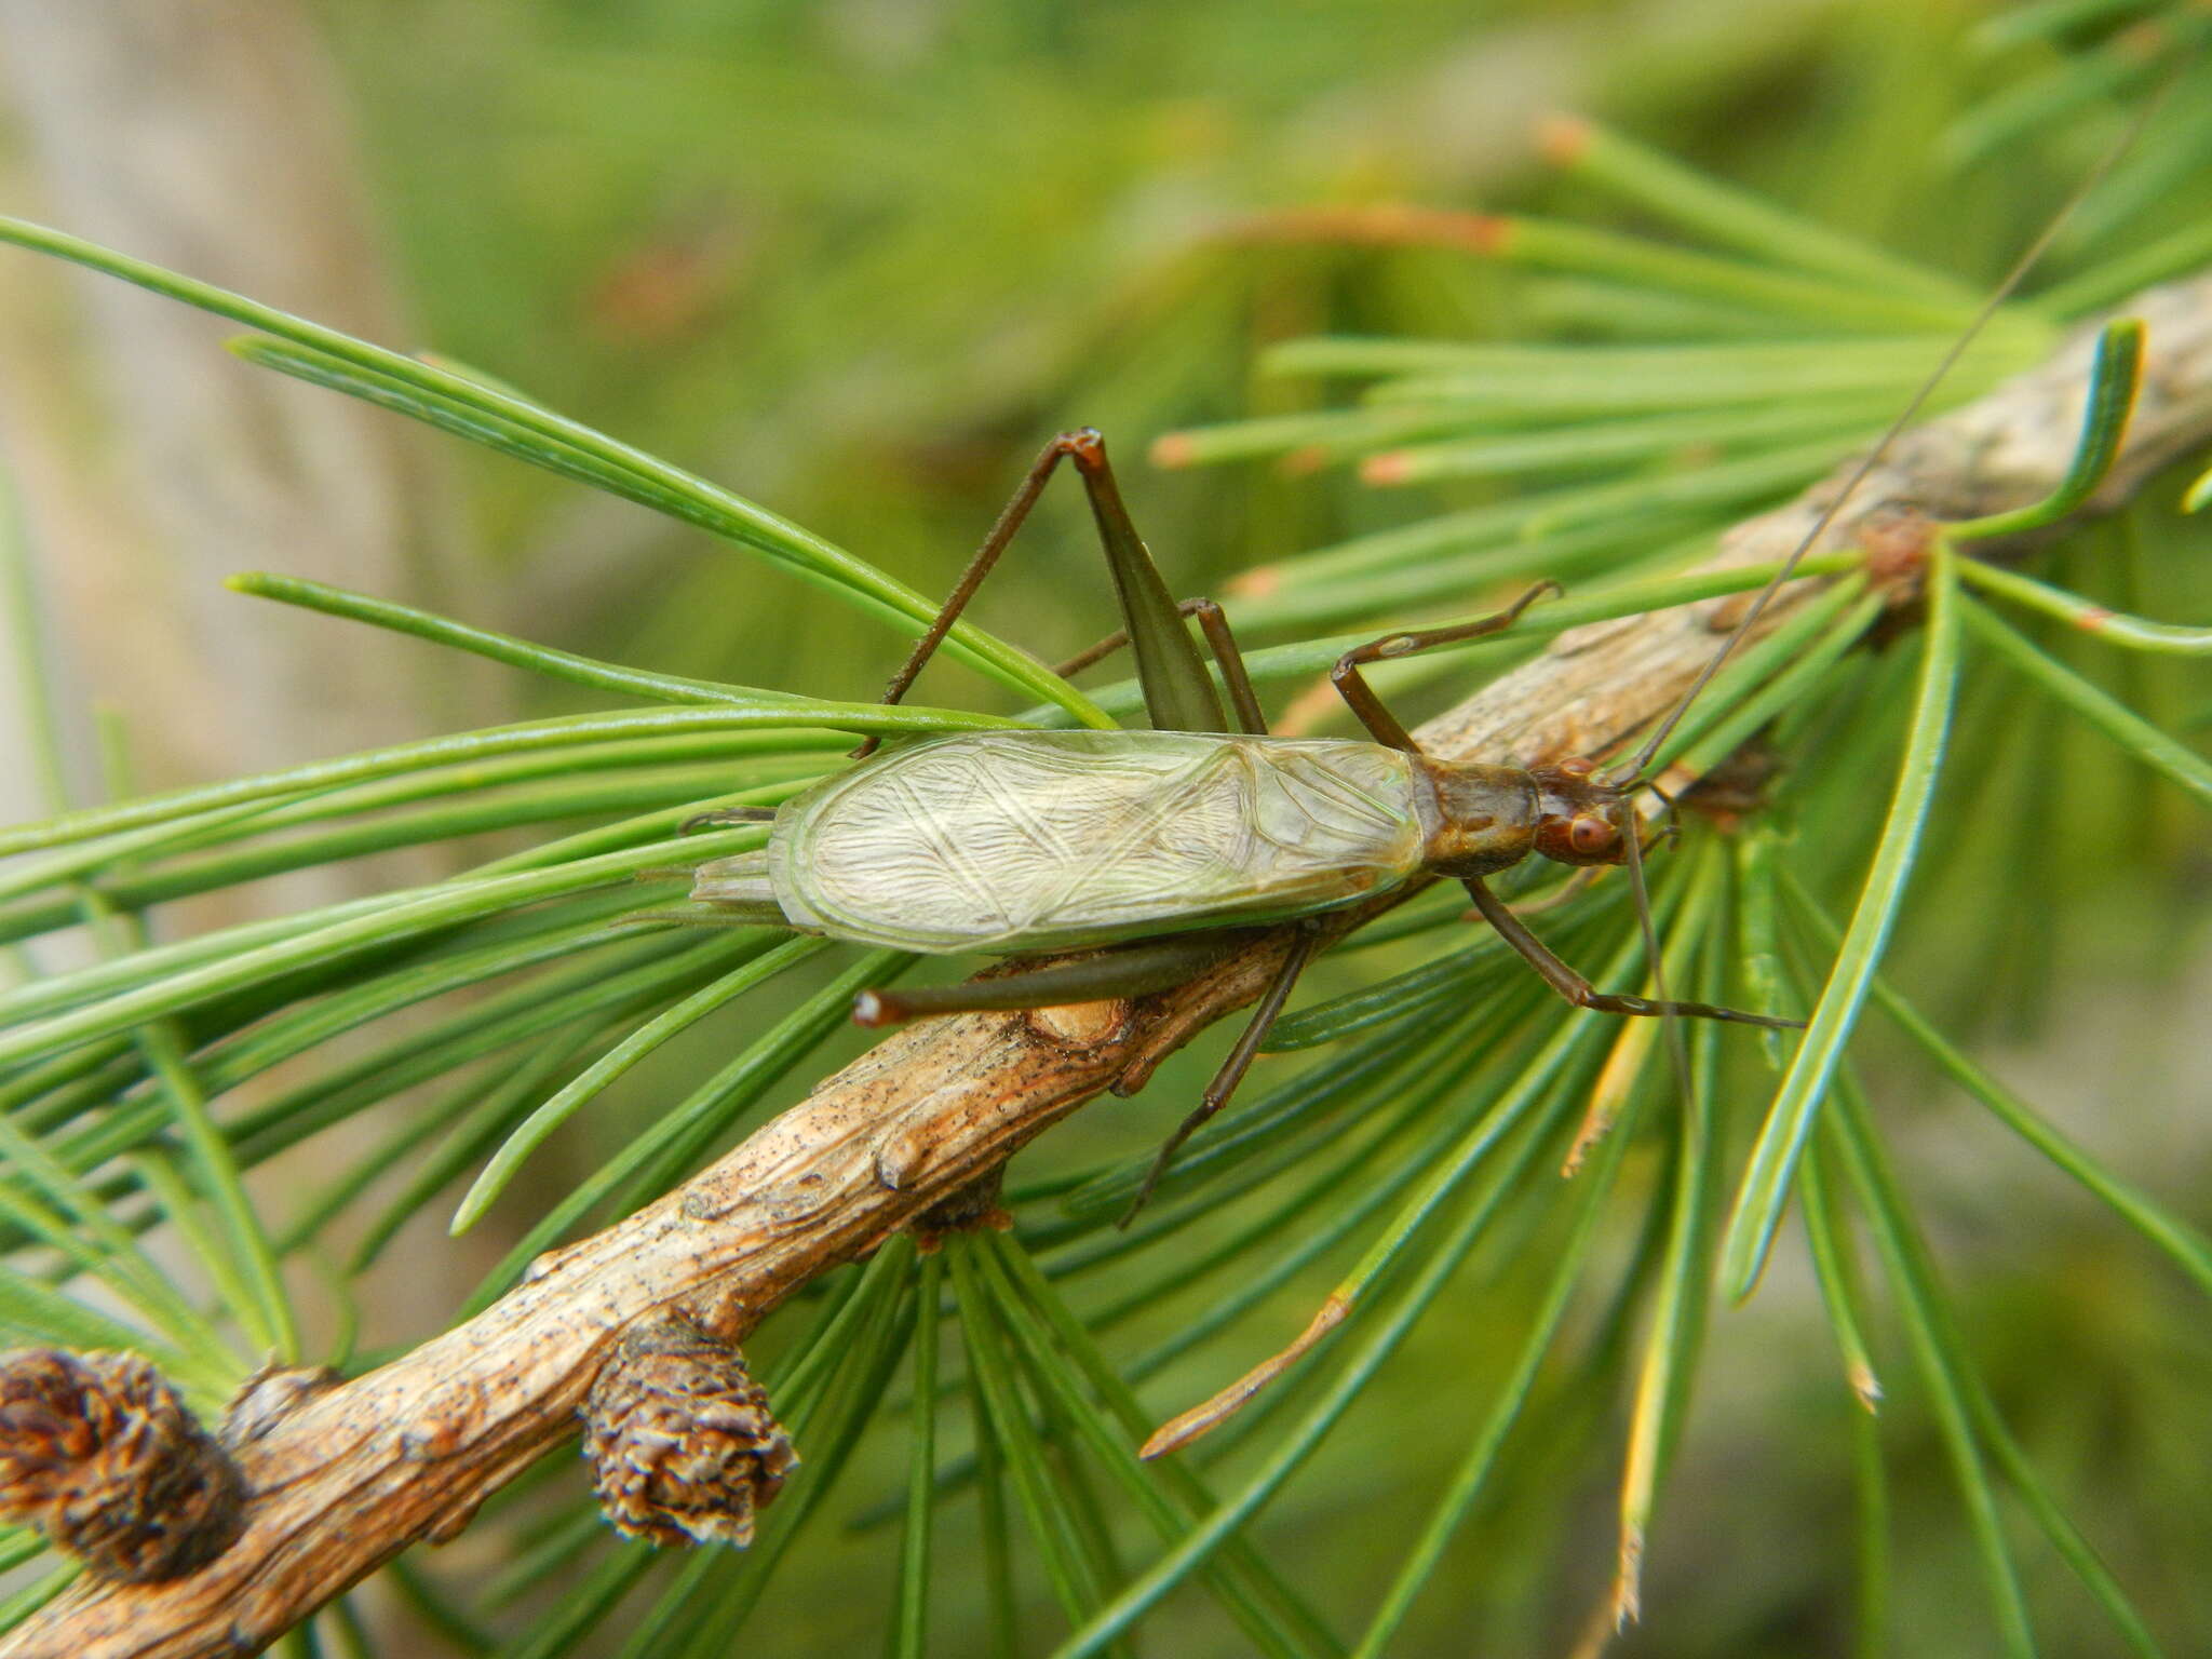
[[[150,1584],[237,1542],[230,1453],[137,1354],[0,1356],[0,1520],[35,1526],[86,1573]]]

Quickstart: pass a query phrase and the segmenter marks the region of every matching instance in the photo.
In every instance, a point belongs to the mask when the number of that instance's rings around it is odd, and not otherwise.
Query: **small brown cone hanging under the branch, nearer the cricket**
[[[584,1458],[617,1533],[739,1548],[799,1462],[737,1347],[684,1314],[624,1332],[584,1400]]]

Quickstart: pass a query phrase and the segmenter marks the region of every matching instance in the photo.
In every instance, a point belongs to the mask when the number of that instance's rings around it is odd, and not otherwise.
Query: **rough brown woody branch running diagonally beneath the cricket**
[[[2150,325],[2143,398],[2090,511],[2121,504],[2161,462],[2212,438],[2212,279],[2152,290],[2126,310]],[[2073,451],[2088,349],[2084,334],[2046,367],[1909,436],[1823,546],[1860,544],[1900,511],[1964,518],[2046,493]],[[1836,480],[1739,524],[1719,562],[1783,557]],[[1759,630],[1818,591],[1818,580],[1792,584]],[[1524,765],[1604,750],[1661,714],[1741,613],[1721,599],[1568,633],[1418,737],[1451,759]],[[80,1586],[0,1655],[186,1659],[268,1644],[407,1544],[453,1535],[487,1493],[562,1444],[633,1323],[681,1310],[741,1338],[799,1285],[1250,1002],[1285,947],[1263,940],[1135,1004],[958,1015],[896,1033],[697,1179],[540,1259],[482,1316],[303,1394],[263,1425],[239,1447],[246,1533],[215,1564],[161,1586]]]

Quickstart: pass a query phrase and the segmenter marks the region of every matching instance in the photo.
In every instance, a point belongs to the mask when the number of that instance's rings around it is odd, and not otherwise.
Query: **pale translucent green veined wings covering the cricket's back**
[[[768,869],[801,927],[909,951],[1042,951],[1265,922],[1420,867],[1411,770],[1376,743],[975,732],[796,796]]]

